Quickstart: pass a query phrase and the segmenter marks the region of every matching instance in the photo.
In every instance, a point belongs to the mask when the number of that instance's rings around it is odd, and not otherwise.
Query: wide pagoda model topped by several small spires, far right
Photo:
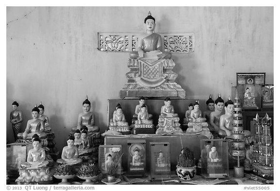
[[[258,113],[253,120],[256,127],[253,173],[266,180],[274,178],[273,144],[270,134],[271,118],[267,114],[260,118]]]

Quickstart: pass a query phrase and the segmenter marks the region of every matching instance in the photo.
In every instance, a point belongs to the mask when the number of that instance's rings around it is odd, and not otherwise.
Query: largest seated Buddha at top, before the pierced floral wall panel
[[[135,52],[130,53],[130,58],[134,59],[170,59],[170,52],[162,52],[161,36],[154,32],[156,19],[152,17],[151,12],[144,19],[146,32],[138,37],[137,48]]]

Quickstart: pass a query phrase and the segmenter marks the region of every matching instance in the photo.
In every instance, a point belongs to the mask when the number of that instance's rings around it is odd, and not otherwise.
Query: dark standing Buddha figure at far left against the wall
[[[20,132],[20,128],[23,121],[23,114],[22,111],[18,110],[18,102],[13,102],[12,108],[13,111],[11,111],[10,113],[10,122],[12,123],[15,140],[17,140],[17,135]]]

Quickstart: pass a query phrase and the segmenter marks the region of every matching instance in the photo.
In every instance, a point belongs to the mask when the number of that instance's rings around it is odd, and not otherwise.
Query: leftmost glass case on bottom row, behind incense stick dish
[[[105,176],[114,175],[121,178],[122,175],[122,145],[100,145],[98,153],[99,170]]]

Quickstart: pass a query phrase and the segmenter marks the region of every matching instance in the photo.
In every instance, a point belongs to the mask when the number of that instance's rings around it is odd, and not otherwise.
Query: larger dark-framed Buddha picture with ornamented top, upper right
[[[265,73],[236,73],[236,88],[245,110],[262,108],[262,86]]]

